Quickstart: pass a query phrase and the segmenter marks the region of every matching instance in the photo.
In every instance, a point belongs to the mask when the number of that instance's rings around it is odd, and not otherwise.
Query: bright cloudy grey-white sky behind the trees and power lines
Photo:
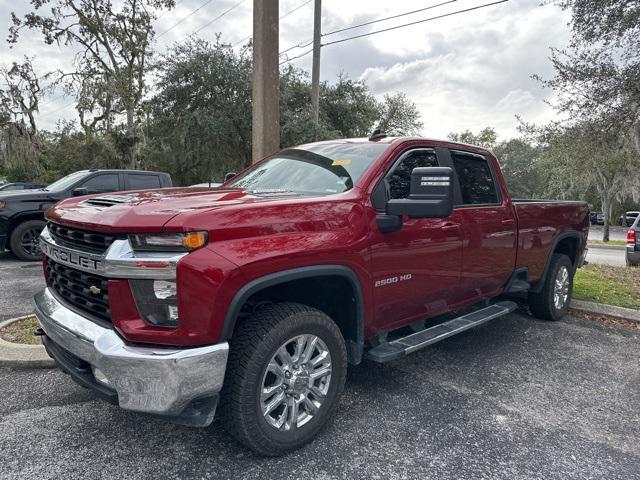
[[[252,0],[245,0],[205,26],[238,1],[177,1],[175,10],[162,15],[156,22],[156,49],[163,51],[202,27],[198,35],[203,38],[212,39],[220,32],[225,42],[242,41],[251,34]],[[331,32],[443,1],[323,0],[322,30]],[[491,1],[452,1],[428,11],[326,36],[323,43]],[[27,0],[0,0],[3,37],[9,28],[10,12],[24,14],[29,3]],[[425,124],[423,134],[429,137],[442,138],[451,131],[477,131],[485,126],[495,127],[501,138],[515,136],[515,115],[539,123],[553,117],[552,109],[545,104],[545,99],[550,100],[550,93],[530,77],[533,73],[550,76],[549,47],[563,47],[569,38],[568,16],[556,7],[539,4],[539,0],[510,0],[328,45],[322,49],[321,78],[332,82],[343,72],[351,78],[364,80],[376,96],[406,93],[418,105]],[[300,5],[303,6],[280,24],[280,51],[311,39],[312,1],[280,0],[280,12],[285,14]],[[200,10],[189,16],[198,7]],[[169,28],[171,30],[167,31]],[[292,49],[288,55],[293,57],[309,48]],[[26,32],[18,45],[11,49],[0,48],[0,64],[9,65],[24,55],[35,56],[38,73],[44,74],[68,66],[73,52],[68,47],[47,46],[36,32]],[[311,55],[293,63],[310,70]],[[54,129],[58,120],[73,119],[74,113],[72,99],[53,94],[42,103],[39,126]]]

